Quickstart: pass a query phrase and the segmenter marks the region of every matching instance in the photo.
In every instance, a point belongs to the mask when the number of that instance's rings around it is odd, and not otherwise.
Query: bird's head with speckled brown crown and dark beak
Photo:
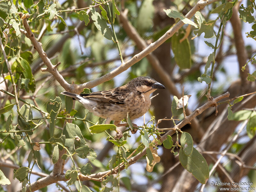
[[[140,93],[148,92],[153,93],[156,89],[165,89],[164,85],[158,83],[156,80],[150,77],[137,77],[128,83],[129,87],[132,87]]]

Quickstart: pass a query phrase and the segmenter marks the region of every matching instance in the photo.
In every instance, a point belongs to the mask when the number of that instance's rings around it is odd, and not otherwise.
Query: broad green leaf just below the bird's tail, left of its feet
[[[66,136],[66,142],[67,142],[67,139],[75,139],[74,140],[75,148],[84,147],[86,144],[80,128],[73,123],[66,124],[63,130],[63,134]],[[66,145],[66,142],[65,142],[65,145]]]

